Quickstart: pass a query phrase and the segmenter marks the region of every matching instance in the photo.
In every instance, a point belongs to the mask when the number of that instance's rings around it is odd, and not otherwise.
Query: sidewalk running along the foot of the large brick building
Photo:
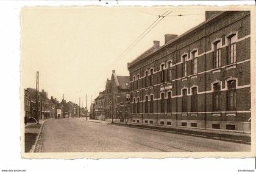
[[[251,134],[242,132],[219,131],[210,129],[198,128],[183,128],[174,126],[156,126],[156,125],[143,125],[136,123],[112,123],[113,125],[120,125],[132,128],[149,129],[161,132],[171,132],[175,134],[183,134],[196,137],[206,137],[208,139],[225,140],[229,142],[251,144]]]

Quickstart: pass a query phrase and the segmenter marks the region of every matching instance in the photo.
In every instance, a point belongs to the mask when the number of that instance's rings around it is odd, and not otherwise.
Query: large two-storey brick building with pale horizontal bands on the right
[[[130,122],[251,132],[250,12],[205,19],[127,64]]]

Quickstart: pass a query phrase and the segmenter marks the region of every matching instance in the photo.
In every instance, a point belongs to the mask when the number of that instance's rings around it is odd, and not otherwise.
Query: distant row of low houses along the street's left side
[[[38,112],[36,109],[36,90],[27,88],[24,90],[24,109],[27,119],[34,117],[37,120],[61,119],[71,117],[84,117],[87,114],[86,108],[71,101],[66,102],[64,95],[62,101],[57,98],[48,98],[48,93],[42,89],[38,92]]]

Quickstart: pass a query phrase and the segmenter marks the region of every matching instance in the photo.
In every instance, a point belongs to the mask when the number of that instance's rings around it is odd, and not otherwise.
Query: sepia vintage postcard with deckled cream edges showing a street
[[[255,7],[23,7],[23,158],[254,157]]]

